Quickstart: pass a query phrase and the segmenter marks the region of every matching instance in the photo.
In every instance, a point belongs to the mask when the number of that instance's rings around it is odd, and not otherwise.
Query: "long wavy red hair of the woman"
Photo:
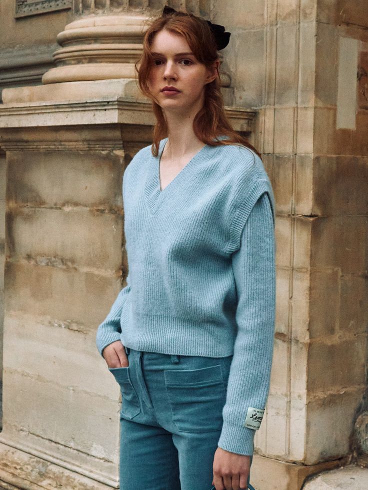
[[[158,155],[159,142],[168,134],[167,123],[163,111],[149,91],[148,81],[153,65],[151,45],[157,32],[166,29],[185,38],[195,58],[210,68],[218,59],[214,36],[207,22],[187,12],[176,11],[153,19],[143,38],[143,52],[135,63],[138,73],[138,86],[143,95],[152,100],[156,124],[153,130],[152,154]],[[220,77],[217,70],[216,78],[204,85],[204,103],[193,120],[196,137],[209,146],[241,144],[251,148],[259,157],[258,151],[234,129],[227,119],[220,90]],[[226,136],[226,139],[217,139]]]

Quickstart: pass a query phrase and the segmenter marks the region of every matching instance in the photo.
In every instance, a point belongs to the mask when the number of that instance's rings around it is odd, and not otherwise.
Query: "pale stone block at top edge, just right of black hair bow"
[[[230,27],[257,27],[264,25],[265,0],[233,0],[217,2],[213,21]],[[236,12],[236,15],[234,15]],[[232,32],[232,31],[231,31]]]

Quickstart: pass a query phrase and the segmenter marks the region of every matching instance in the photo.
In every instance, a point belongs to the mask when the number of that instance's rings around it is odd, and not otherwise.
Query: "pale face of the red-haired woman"
[[[196,113],[203,105],[205,84],[217,75],[218,61],[207,69],[191,53],[183,36],[165,29],[154,36],[151,51],[148,86],[162,110]]]

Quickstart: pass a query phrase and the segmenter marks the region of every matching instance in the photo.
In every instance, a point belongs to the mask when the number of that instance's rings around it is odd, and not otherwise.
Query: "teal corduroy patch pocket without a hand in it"
[[[212,432],[222,428],[226,389],[221,365],[164,371],[172,421],[180,432]]]

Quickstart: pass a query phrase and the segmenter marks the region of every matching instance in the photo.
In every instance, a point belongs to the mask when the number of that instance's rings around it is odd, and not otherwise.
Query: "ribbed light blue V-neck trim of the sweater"
[[[180,189],[193,175],[192,170],[196,164],[207,159],[206,150],[211,149],[208,145],[204,145],[195,155],[183,166],[183,168],[175,175],[175,177],[161,190],[159,180],[159,165],[163,148],[167,143],[168,138],[160,141],[158,155],[156,157],[150,155],[148,169],[145,182],[145,203],[150,214],[155,214],[160,208],[161,203]],[[213,148],[214,149],[214,148]],[[216,147],[217,149],[217,147]]]

